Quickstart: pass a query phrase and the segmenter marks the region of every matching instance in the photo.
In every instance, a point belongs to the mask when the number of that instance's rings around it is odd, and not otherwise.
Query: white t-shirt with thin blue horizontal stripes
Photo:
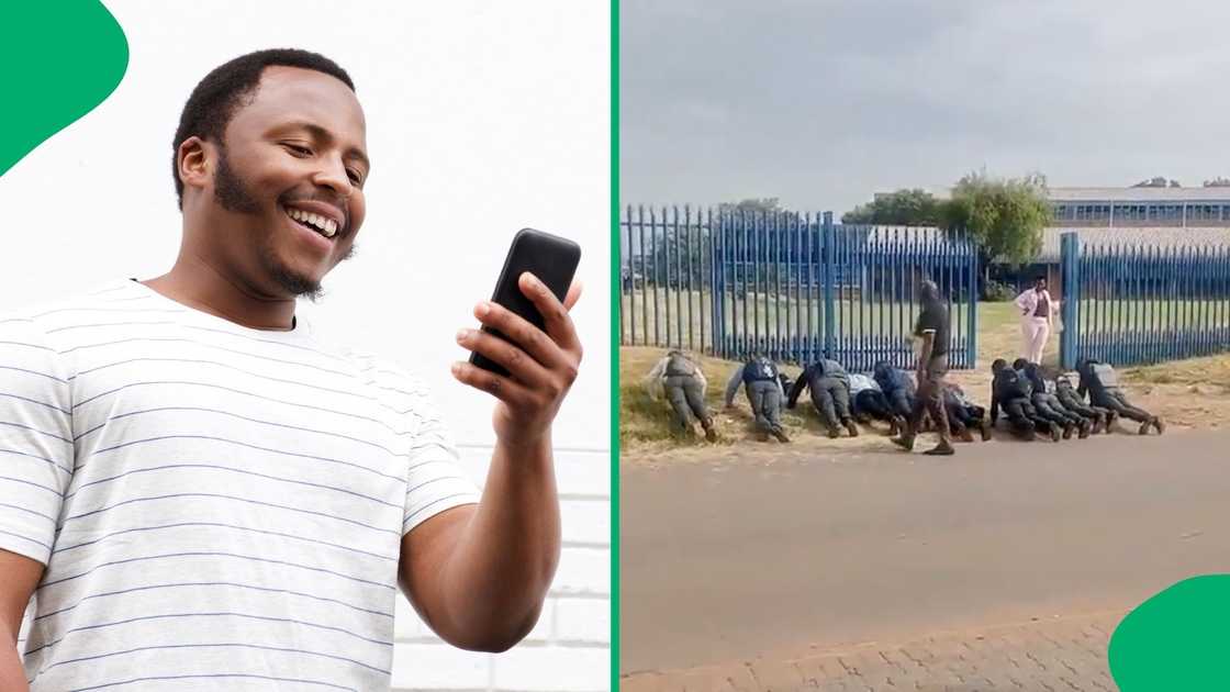
[[[387,690],[401,538],[477,497],[423,385],[303,319],[130,280],[0,315],[0,548],[47,565],[33,692]]]

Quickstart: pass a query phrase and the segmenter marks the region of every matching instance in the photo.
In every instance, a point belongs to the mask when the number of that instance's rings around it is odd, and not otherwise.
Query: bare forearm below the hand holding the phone
[[[450,629],[469,648],[503,650],[534,628],[560,563],[560,499],[551,440],[496,445],[482,500],[444,565]]]

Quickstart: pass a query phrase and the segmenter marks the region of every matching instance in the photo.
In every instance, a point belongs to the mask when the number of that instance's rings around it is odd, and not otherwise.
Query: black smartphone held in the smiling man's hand
[[[496,282],[496,292],[491,294],[491,302],[499,303],[514,314],[525,318],[534,326],[545,329],[546,323],[542,314],[522,293],[518,280],[522,273],[530,272],[562,302],[568,294],[568,287],[572,286],[572,277],[577,273],[578,264],[581,264],[581,246],[572,240],[533,228],[523,228],[513,238],[513,246],[508,249],[508,257],[504,259],[504,268],[499,272],[499,281]],[[507,340],[497,329],[483,326],[482,330]],[[497,374],[508,374],[503,366],[481,353],[471,352],[470,362]]]

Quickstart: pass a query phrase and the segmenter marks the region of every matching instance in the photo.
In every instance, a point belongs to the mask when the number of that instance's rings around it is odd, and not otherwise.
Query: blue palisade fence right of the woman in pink
[[[1220,246],[1082,244],[1063,236],[1064,367],[1230,351],[1230,231]]]

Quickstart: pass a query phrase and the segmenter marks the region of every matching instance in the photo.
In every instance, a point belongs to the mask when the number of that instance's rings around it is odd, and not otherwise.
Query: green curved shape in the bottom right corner
[[[1107,658],[1121,692],[1230,690],[1230,574],[1184,579],[1140,603]]]

